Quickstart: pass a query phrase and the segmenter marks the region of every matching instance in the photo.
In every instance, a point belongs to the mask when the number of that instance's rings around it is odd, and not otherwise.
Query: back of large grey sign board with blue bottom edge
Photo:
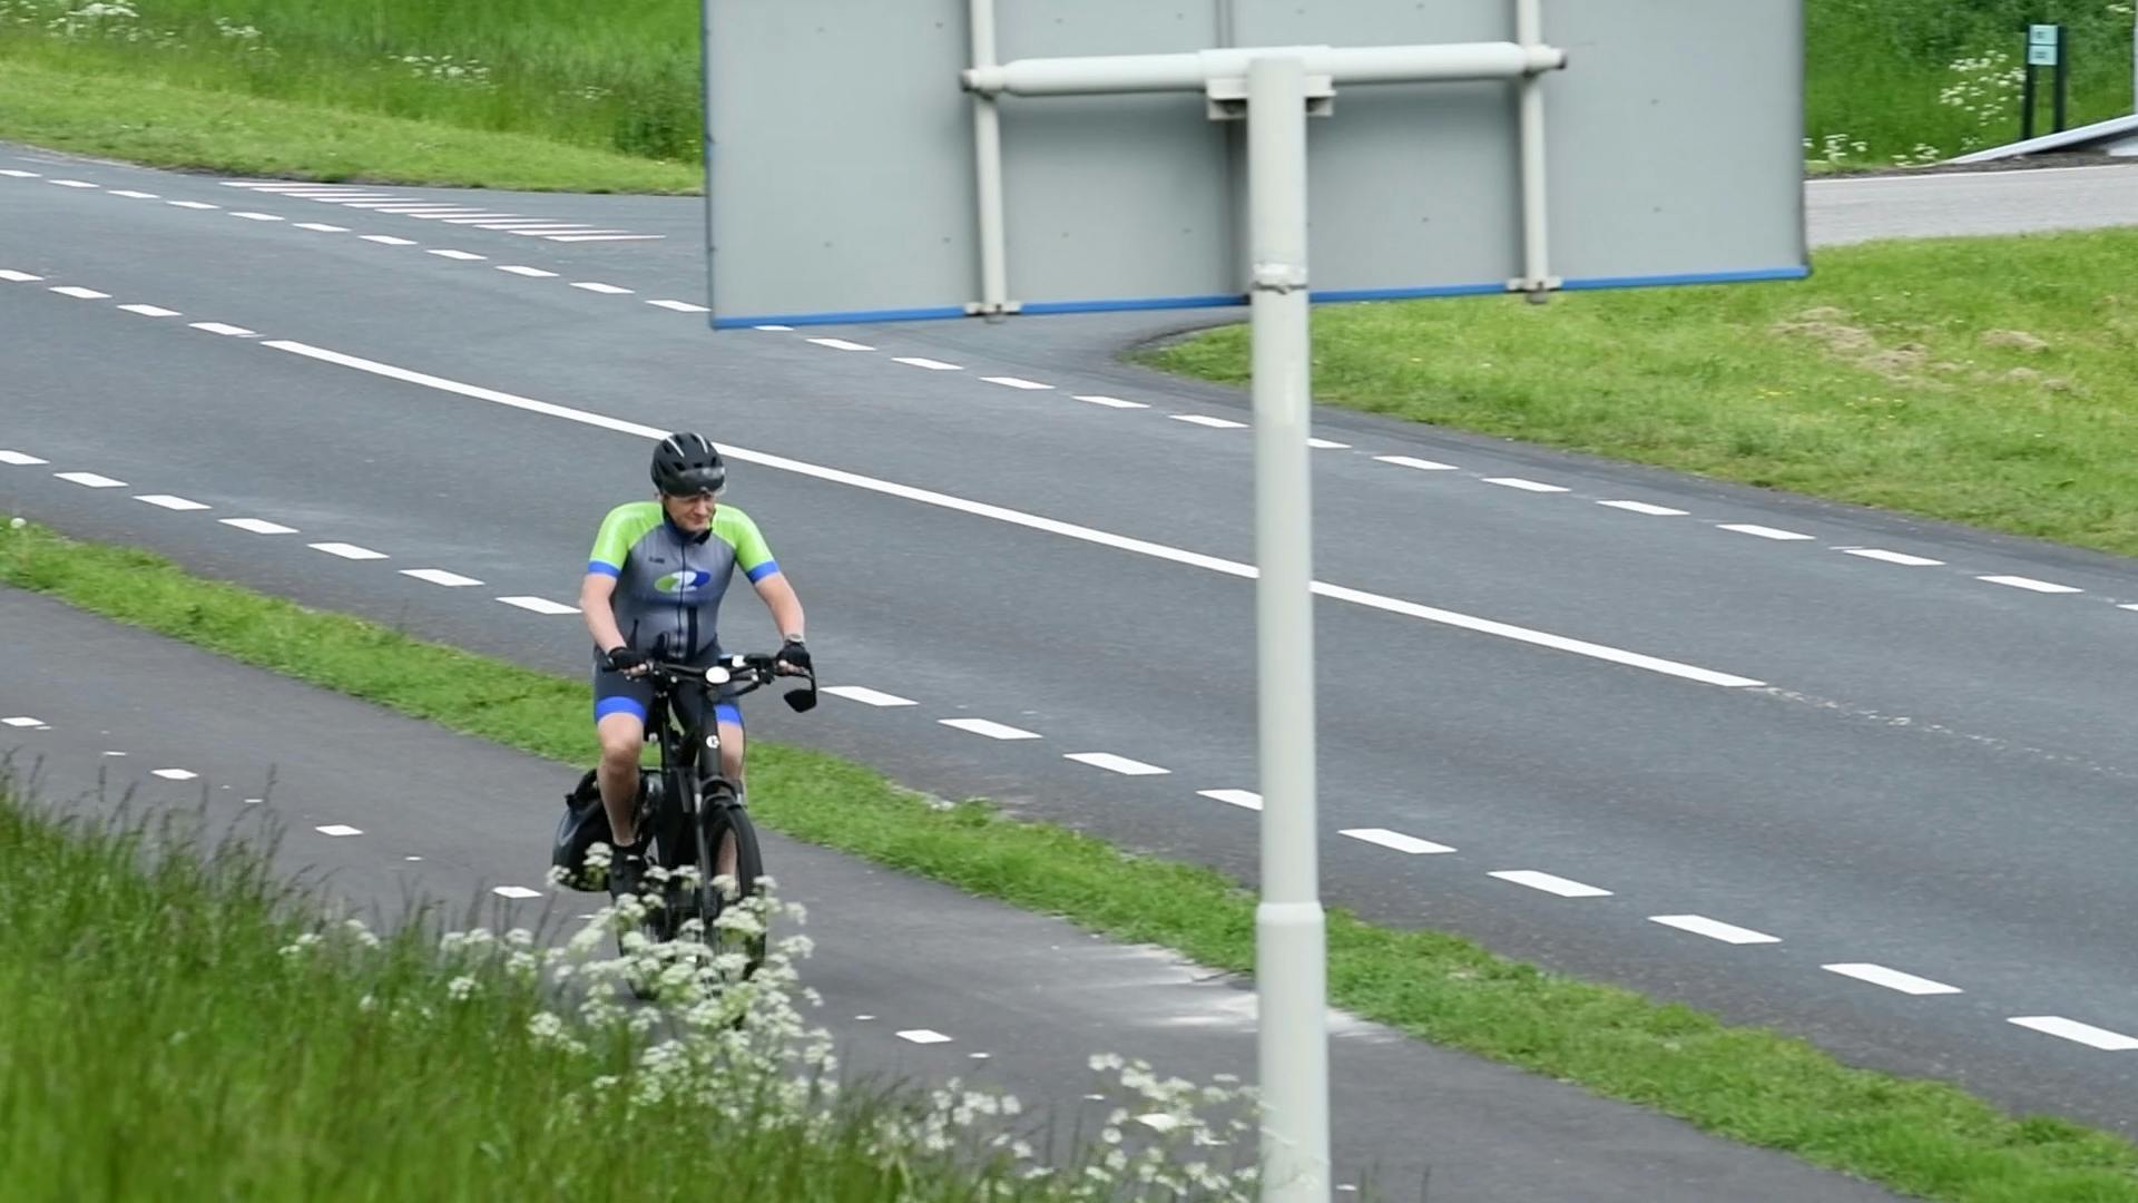
[[[966,0],[706,0],[714,325],[979,300]],[[1512,0],[996,0],[998,60],[1514,39]],[[1550,272],[1798,278],[1802,0],[1546,0]],[[1313,300],[1522,276],[1516,83],[1338,88],[1311,122]],[[998,101],[1020,313],[1246,302],[1242,122],[1182,92]]]

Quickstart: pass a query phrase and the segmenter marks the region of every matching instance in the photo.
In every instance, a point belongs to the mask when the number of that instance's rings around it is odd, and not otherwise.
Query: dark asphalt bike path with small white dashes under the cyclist
[[[218,831],[272,811],[282,867],[325,873],[334,893],[387,918],[413,897],[440,899],[447,914],[479,905],[498,925],[601,901],[543,880],[549,826],[577,777],[569,764],[24,591],[0,589],[0,719],[11,719],[0,758],[47,803],[205,807]],[[1246,978],[776,833],[765,858],[783,895],[808,908],[817,950],[804,980],[825,1000],[810,1021],[832,1030],[853,1070],[956,1075],[1063,1126],[1097,1107],[1084,1100],[1097,1090],[1093,1053],[1146,1057],[1197,1083],[1253,1081]],[[1892,1199],[1345,1015],[1332,1015],[1330,1075],[1338,1184],[1364,1173],[1383,1199],[1417,1199],[1422,1182],[1432,1203]],[[1086,1113],[1084,1130],[1097,1120]]]

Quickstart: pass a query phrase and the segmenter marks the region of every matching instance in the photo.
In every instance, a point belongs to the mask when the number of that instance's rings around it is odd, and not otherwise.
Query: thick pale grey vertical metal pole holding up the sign
[[[1326,929],[1315,848],[1313,516],[1306,432],[1306,62],[1246,71],[1255,372],[1255,674],[1261,903],[1255,908],[1261,1199],[1328,1203]]]

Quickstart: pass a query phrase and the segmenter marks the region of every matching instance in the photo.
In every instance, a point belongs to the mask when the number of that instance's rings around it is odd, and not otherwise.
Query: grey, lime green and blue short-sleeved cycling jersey
[[[748,514],[721,505],[693,535],[659,501],[609,509],[586,561],[586,572],[616,578],[609,606],[624,642],[667,659],[718,655],[721,597],[735,567],[753,582],[780,569]]]

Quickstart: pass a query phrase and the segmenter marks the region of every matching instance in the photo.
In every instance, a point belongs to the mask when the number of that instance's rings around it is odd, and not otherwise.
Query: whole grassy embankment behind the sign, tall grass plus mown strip
[[[2129,111],[2127,4],[1809,0],[1804,158],[2018,137],[2029,19],[2070,26],[2074,124]],[[0,137],[323,180],[697,191],[699,0],[0,0]]]

